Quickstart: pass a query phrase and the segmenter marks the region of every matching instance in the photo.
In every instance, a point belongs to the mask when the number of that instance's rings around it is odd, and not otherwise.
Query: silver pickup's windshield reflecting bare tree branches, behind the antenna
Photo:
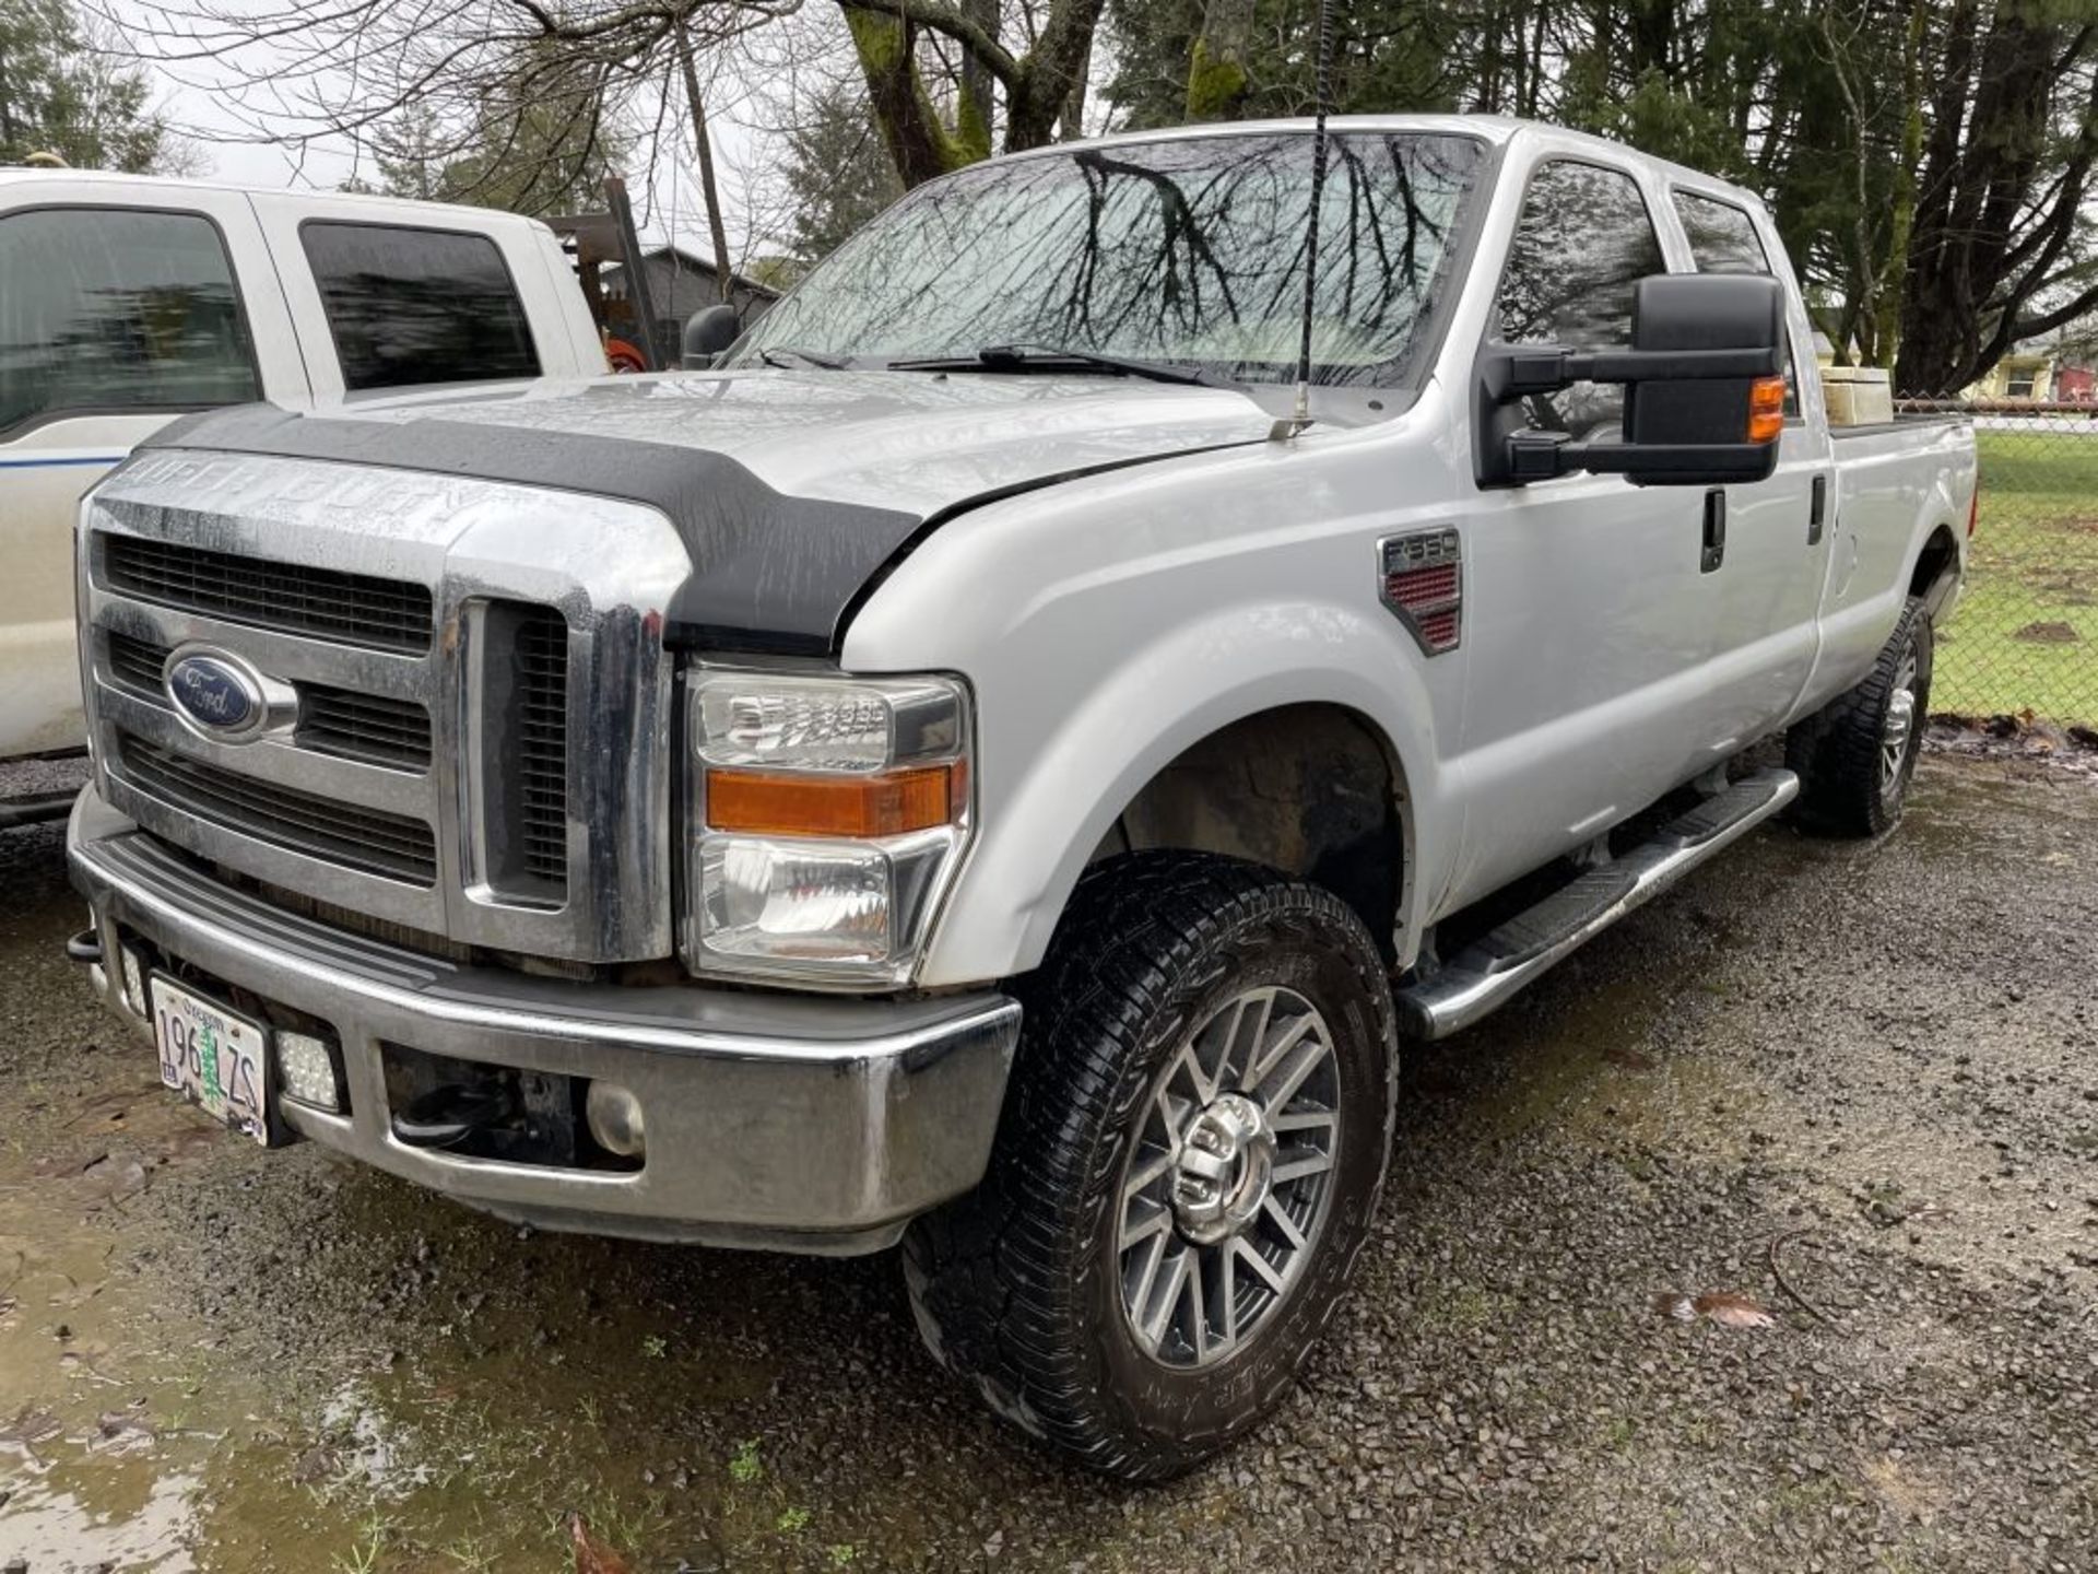
[[[1332,139],[1315,382],[1404,376],[1477,164],[1467,136]],[[793,348],[869,365],[1020,344],[1292,382],[1309,210],[1305,132],[980,164],[845,241],[734,361]]]

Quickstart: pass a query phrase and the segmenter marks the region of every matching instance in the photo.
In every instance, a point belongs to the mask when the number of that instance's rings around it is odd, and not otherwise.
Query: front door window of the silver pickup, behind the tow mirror
[[[1639,183],[1599,164],[1540,164],[1500,275],[1500,338],[1630,348],[1632,285],[1649,273],[1668,273],[1668,262]],[[1624,390],[1584,382],[1529,399],[1527,411],[1534,426],[1594,437],[1624,418]]]

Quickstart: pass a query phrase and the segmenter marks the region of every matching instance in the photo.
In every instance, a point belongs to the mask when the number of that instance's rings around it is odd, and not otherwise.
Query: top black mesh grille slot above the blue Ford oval
[[[107,535],[103,581],[138,600],[256,628],[376,651],[430,648],[430,592],[399,579]]]

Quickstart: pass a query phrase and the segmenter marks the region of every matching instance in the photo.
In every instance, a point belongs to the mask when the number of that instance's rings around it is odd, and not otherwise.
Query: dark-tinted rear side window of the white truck
[[[300,225],[344,388],[537,378],[539,355],[487,235],[399,225]]]

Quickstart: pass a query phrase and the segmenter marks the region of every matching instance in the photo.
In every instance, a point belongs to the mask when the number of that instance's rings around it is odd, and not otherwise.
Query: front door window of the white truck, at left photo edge
[[[197,214],[0,218],[0,432],[67,411],[262,397],[224,241]]]

